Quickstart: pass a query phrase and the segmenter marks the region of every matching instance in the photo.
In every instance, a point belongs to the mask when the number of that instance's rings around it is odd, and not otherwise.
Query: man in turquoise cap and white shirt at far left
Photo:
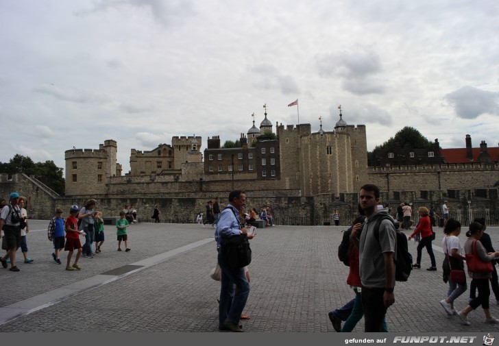
[[[10,258],[10,271],[19,271],[16,267],[16,251],[21,246],[21,209],[17,205],[19,193],[11,193],[10,204],[0,212],[0,228],[5,236],[7,254],[0,258],[3,268],[7,268],[7,258]]]

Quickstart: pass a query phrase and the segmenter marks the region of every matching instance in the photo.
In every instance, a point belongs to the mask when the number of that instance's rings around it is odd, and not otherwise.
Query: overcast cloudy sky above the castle
[[[0,161],[172,136],[236,140],[263,120],[369,150],[406,125],[441,147],[499,143],[497,0],[0,0]],[[274,127],[275,131],[275,127]]]

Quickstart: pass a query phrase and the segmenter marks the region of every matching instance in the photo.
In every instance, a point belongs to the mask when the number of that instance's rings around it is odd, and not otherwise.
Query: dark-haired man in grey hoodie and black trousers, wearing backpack
[[[365,332],[380,332],[387,309],[395,302],[393,254],[396,231],[388,210],[377,210],[379,199],[378,186],[365,184],[361,187],[359,203],[367,219],[360,238],[355,230],[352,230],[351,235],[352,240],[358,241]],[[379,219],[380,223],[377,222]]]

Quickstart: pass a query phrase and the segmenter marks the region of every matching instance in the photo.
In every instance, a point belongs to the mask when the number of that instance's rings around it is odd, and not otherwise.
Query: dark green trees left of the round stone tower
[[[33,162],[31,158],[16,154],[9,162],[0,162],[1,173],[25,173],[49,186],[59,195],[64,195],[65,181],[62,168],[50,160]]]

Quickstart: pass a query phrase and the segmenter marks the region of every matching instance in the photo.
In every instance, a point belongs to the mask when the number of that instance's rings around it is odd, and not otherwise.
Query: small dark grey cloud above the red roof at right
[[[454,107],[459,118],[475,119],[485,113],[499,115],[499,92],[463,86],[447,94],[444,99]]]

